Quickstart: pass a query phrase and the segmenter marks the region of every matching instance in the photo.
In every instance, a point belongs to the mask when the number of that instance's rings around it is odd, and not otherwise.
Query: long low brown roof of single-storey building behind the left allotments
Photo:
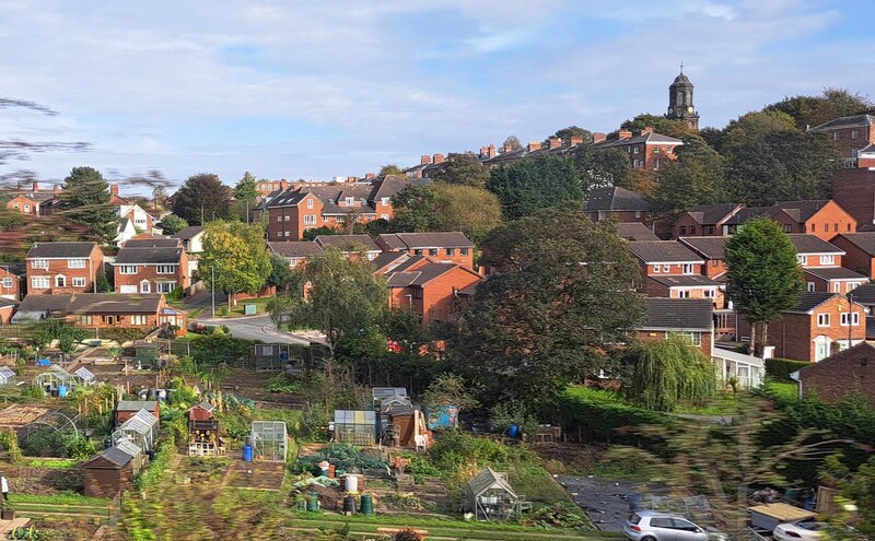
[[[19,311],[59,311],[65,314],[156,314],[160,293],[119,295],[117,293],[75,293],[27,295]]]

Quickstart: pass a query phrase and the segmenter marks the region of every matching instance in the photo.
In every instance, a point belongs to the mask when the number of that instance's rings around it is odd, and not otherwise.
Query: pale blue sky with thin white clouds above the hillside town
[[[59,181],[156,169],[363,176],[576,125],[664,114],[684,63],[700,125],[791,95],[875,98],[866,0],[0,0],[0,139],[82,141],[0,164]]]

